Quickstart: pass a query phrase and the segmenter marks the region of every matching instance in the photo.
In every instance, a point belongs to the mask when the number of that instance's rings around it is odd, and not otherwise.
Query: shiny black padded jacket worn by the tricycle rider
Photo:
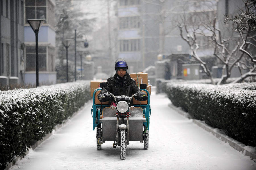
[[[123,77],[115,73],[114,76],[108,78],[107,87],[105,89],[114,96],[128,95],[130,97],[140,91],[140,88],[136,85],[135,80],[131,79],[129,73],[126,73]],[[100,95],[106,93],[106,90],[102,89],[98,94],[98,98]]]

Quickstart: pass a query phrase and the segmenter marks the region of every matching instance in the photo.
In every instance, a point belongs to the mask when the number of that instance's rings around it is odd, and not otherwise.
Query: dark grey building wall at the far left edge
[[[0,1],[0,75],[3,85],[20,82],[24,55],[24,0]]]

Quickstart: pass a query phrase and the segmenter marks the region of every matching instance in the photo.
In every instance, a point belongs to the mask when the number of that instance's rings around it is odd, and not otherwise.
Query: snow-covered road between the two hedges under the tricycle
[[[148,150],[143,149],[143,143],[131,141],[125,160],[120,160],[120,147],[113,148],[113,142],[103,143],[97,151],[89,102],[11,169],[256,169],[249,157],[170,109],[165,95],[152,92],[150,102]]]

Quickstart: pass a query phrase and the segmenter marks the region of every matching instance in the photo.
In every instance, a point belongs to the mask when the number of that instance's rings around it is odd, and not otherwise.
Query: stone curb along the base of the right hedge
[[[169,107],[177,111],[179,114],[183,115],[186,118],[191,119],[191,116],[189,113],[182,111],[180,108],[174,106],[173,104],[168,104]],[[204,121],[192,119],[192,122],[194,124],[197,124],[197,126],[205,129],[206,131],[212,133],[215,137],[220,139],[221,141],[224,141],[225,143],[229,143],[230,146],[232,146],[234,149],[238,150],[239,152],[242,152],[244,156],[249,156],[251,160],[256,162],[256,147],[253,148],[252,146],[246,146],[243,143],[233,139],[232,137],[227,136],[222,129],[212,128],[211,126],[207,125]]]

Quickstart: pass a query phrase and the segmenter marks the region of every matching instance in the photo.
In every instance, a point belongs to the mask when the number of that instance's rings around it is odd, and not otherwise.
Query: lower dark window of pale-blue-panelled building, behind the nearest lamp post
[[[38,46],[38,69],[46,71],[46,46]],[[26,71],[36,71],[35,46],[26,46]]]

